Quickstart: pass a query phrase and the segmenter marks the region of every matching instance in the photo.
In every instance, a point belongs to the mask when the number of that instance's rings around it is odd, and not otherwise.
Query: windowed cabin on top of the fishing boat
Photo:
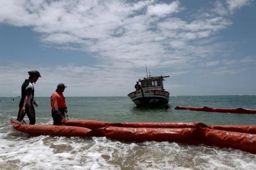
[[[139,79],[139,82],[141,82],[141,88],[143,89],[165,91],[163,88],[163,81],[165,81],[163,78],[165,77],[170,76],[144,77],[143,80]]]

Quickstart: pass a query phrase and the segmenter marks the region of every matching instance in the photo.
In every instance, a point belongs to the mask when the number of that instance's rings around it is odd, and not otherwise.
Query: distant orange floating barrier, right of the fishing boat
[[[242,114],[256,114],[256,110],[247,108],[209,108],[209,107],[190,107],[190,106],[176,106],[175,110],[194,110],[207,111],[219,113],[242,113]]]

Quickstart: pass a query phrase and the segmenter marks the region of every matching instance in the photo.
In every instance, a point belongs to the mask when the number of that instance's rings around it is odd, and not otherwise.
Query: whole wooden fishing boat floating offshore
[[[140,88],[127,96],[132,99],[132,101],[137,106],[165,106],[169,102],[168,91],[163,88],[164,78],[170,76],[149,76],[139,79]]]

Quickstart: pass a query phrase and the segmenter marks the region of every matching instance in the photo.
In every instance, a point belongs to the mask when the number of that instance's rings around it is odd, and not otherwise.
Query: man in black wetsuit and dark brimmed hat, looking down
[[[30,120],[30,125],[35,125],[35,106],[37,103],[33,101],[34,98],[34,87],[33,82],[37,82],[38,78],[41,77],[38,71],[28,71],[28,79],[25,79],[21,86],[21,99],[20,99],[20,109],[18,112],[17,120],[22,121],[25,113]]]

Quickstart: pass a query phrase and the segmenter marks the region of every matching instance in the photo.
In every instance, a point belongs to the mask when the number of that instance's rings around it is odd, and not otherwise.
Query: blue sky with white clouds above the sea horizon
[[[0,96],[127,96],[170,76],[170,96],[256,94],[256,3],[0,0]]]

